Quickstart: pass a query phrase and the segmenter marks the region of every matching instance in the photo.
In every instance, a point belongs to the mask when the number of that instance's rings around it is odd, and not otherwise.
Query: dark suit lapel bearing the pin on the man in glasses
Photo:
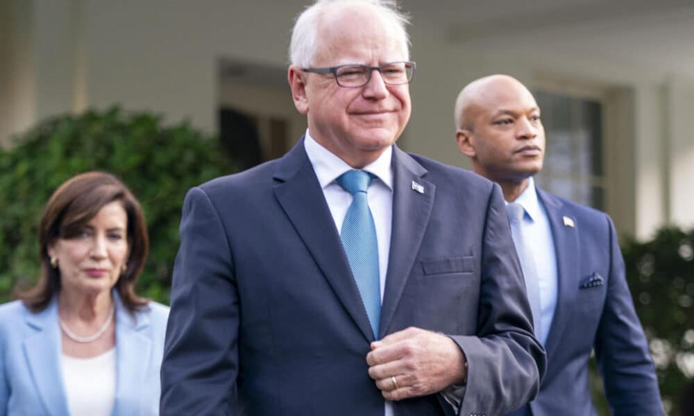
[[[414,260],[429,223],[434,204],[434,184],[423,180],[426,169],[407,153],[393,146],[393,225],[386,287],[381,307],[380,333],[389,330],[400,295],[407,283]],[[422,192],[413,189],[421,185]]]

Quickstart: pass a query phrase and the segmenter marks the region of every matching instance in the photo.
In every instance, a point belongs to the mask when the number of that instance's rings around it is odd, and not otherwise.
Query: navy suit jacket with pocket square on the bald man
[[[592,349],[613,415],[662,415],[655,369],[612,221],[595,209],[541,189],[537,193],[557,252],[557,309],[545,343],[548,367],[540,392],[511,415],[598,415],[589,389]]]

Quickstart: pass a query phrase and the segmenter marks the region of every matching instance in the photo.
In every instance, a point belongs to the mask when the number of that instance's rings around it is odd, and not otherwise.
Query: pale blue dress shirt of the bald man
[[[557,252],[552,237],[550,219],[545,207],[537,198],[535,182],[532,177],[530,177],[523,193],[511,202],[518,202],[518,204],[523,205],[527,212],[527,215],[523,216],[521,227],[524,238],[533,242],[530,253],[532,253],[535,261],[540,288],[540,320],[535,322],[535,325],[539,325],[541,331],[539,341],[545,345],[557,309],[558,288]]]

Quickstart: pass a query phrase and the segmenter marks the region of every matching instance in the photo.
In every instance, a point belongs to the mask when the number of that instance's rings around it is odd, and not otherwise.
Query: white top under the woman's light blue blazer
[[[71,416],[110,416],[116,396],[116,348],[92,358],[60,354]]]

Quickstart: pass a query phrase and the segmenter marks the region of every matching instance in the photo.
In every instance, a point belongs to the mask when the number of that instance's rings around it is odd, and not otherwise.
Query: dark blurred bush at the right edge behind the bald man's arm
[[[622,254],[666,414],[694,415],[694,229],[663,227],[650,241],[627,236]],[[595,406],[610,415],[594,363],[591,370]]]

